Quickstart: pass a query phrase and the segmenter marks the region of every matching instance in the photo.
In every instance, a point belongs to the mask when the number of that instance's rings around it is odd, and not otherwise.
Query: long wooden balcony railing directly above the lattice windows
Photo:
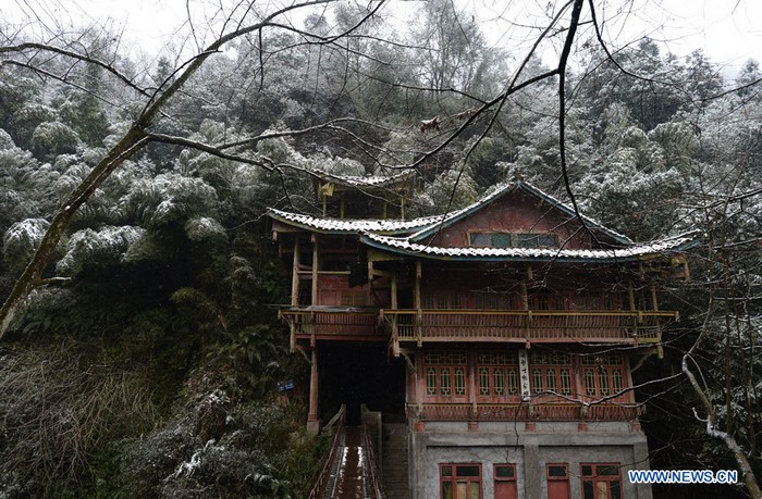
[[[661,340],[678,320],[661,311],[381,310],[395,345],[415,341],[611,342]]]

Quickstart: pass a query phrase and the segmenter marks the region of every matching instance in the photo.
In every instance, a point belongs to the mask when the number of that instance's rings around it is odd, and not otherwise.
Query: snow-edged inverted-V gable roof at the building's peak
[[[413,239],[415,241],[420,241],[421,239],[423,239],[426,237],[432,236],[433,234],[435,234],[440,229],[454,224],[455,222],[466,217],[467,215],[480,210],[483,207],[487,207],[489,203],[491,203],[495,199],[502,197],[504,194],[509,192],[514,189],[523,190],[525,192],[528,192],[531,196],[540,198],[543,201],[545,201],[546,203],[563,211],[564,213],[566,213],[569,216],[573,216],[573,217],[577,216],[577,213],[575,213],[574,208],[563,203],[558,199],[554,198],[553,196],[549,195],[548,192],[543,191],[542,189],[534,187],[533,185],[529,184],[528,182],[519,179],[519,180],[515,180],[515,182],[508,182],[505,184],[499,184],[496,186],[496,188],[491,194],[482,197],[481,199],[479,199],[475,203],[472,203],[472,204],[470,204],[462,210],[450,213],[441,223],[437,224],[435,226],[425,227],[425,228],[420,229],[416,234],[413,234],[410,236],[410,239]],[[581,215],[581,217],[585,221],[585,223],[589,226],[590,229],[605,234],[606,236],[613,238],[614,240],[616,240],[619,244],[623,244],[623,245],[632,244],[632,240],[629,237],[622,235],[622,234],[617,233],[616,230],[612,230],[611,228],[603,226],[599,222],[597,222],[588,216]]]

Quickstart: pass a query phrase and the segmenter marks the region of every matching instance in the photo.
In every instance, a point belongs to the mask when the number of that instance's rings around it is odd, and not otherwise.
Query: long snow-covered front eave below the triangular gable
[[[371,247],[408,255],[426,255],[441,260],[483,260],[483,261],[567,261],[567,262],[617,262],[639,260],[648,255],[664,255],[689,249],[696,244],[697,232],[679,236],[635,244],[617,249],[553,249],[553,248],[444,248],[421,245],[413,237],[390,237],[380,234],[364,234],[360,240]]]

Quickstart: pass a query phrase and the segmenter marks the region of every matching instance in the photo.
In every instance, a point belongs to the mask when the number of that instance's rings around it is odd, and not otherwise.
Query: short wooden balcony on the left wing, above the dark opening
[[[297,339],[345,341],[388,341],[389,334],[379,327],[377,309],[346,307],[307,307],[282,310],[280,316],[291,326],[291,345]]]

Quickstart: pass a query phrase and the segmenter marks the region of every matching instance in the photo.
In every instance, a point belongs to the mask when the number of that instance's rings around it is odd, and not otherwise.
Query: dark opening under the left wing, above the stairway
[[[319,346],[320,419],[328,421],[342,403],[346,424],[360,424],[360,404],[372,411],[404,414],[405,362],[386,354],[384,344]]]

